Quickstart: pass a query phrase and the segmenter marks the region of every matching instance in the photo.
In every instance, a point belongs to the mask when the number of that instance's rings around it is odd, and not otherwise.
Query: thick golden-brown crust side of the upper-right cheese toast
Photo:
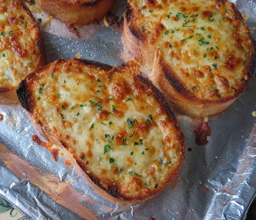
[[[218,3],[227,4],[228,1],[218,0]],[[231,7],[234,10],[236,19],[246,26],[246,22],[244,22],[241,13],[234,7],[234,4],[232,4]],[[177,111],[193,118],[212,116],[224,111],[239,95],[244,93],[248,83],[250,83],[255,75],[256,69],[256,44],[250,33],[248,33],[252,40],[252,47],[250,48],[250,52],[248,52],[250,59],[247,59],[244,64],[246,77],[241,79],[241,81],[243,80],[241,86],[228,97],[218,99],[212,99],[210,97],[199,98],[196,97],[193,91],[185,86],[184,81],[182,81],[175,70],[173,70],[172,64],[166,62],[161,51],[157,50],[156,46],[148,43],[146,31],[136,26],[136,20],[138,20],[139,16],[138,13],[140,12],[135,12],[135,10],[136,9],[132,8],[131,4],[128,3],[124,20],[125,49],[131,53],[134,58],[138,59],[141,64],[152,68],[152,75],[149,75],[149,78],[157,88],[164,93]]]

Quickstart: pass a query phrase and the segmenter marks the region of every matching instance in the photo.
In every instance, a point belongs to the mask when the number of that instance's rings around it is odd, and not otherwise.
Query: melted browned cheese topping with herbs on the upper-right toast
[[[129,4],[149,47],[159,50],[164,62],[196,97],[232,96],[248,79],[246,65],[253,42],[234,4],[215,0],[140,0]]]

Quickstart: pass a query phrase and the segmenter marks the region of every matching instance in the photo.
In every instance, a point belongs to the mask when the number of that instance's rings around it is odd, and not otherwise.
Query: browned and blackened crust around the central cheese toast
[[[70,60],[65,60],[65,62],[70,62]],[[29,74],[26,79],[24,79],[17,89],[17,95],[19,97],[20,104],[22,104],[22,107],[26,109],[26,113],[29,116],[29,119],[33,123],[35,129],[38,131],[38,134],[40,134],[43,138],[45,138],[47,141],[50,141],[58,146],[63,146],[67,149],[70,149],[70,146],[67,141],[63,138],[58,138],[54,132],[52,132],[52,129],[49,126],[49,123],[44,120],[44,118],[36,118],[36,124],[35,124],[35,108],[36,108],[36,102],[35,97],[33,95],[33,88],[31,88],[31,82],[35,82],[36,80],[40,79],[41,77],[44,77],[45,72],[49,72],[54,65],[58,65],[59,63],[63,62],[63,60],[55,61],[54,64],[50,63],[44,68],[41,68],[40,70],[36,70],[36,72]],[[111,72],[112,74],[124,74],[127,69],[132,68],[131,64],[124,64],[120,65],[115,68],[111,68],[109,65],[104,65],[102,63],[97,63],[95,61],[89,61],[89,60],[77,60],[77,59],[71,59],[72,63],[84,63],[85,65],[89,66],[96,66],[100,67],[101,69],[107,70]],[[51,72],[52,73],[52,72]],[[168,122],[170,125],[175,127],[175,129],[179,129],[179,124],[177,123],[177,118],[175,116],[175,113],[170,106],[169,102],[166,100],[166,98],[163,96],[163,94],[147,79],[139,75],[133,75],[134,80],[136,82],[136,85],[139,88],[143,88],[145,91],[152,91],[154,96],[157,98],[157,101],[159,104],[161,104],[161,107],[163,107],[163,110],[161,110],[161,114],[164,112],[168,116]],[[160,193],[163,191],[163,189],[172,182],[172,180],[177,176],[180,166],[182,165],[182,162],[184,160],[184,152],[185,152],[185,146],[184,146],[184,136],[182,132],[178,132],[177,139],[179,139],[179,150],[180,150],[180,161],[175,168],[170,171],[168,178],[164,180],[163,183],[161,183],[161,186],[157,188],[157,190],[154,192],[154,194],[149,194],[145,196],[145,194],[141,194],[140,196],[125,196],[125,194],[122,194],[120,191],[121,185],[118,184],[118,182],[109,182],[109,180],[104,179],[104,177],[99,178],[95,176],[92,172],[88,170],[86,166],[84,166],[84,162],[79,157],[78,153],[74,154],[73,157],[77,161],[77,164],[83,169],[84,174],[83,175],[86,180],[92,185],[93,189],[97,191],[101,196],[104,196],[104,198],[107,198],[108,200],[115,201],[115,202],[121,202],[121,203],[135,203],[136,201],[143,201],[147,200],[148,198],[151,198],[152,196]],[[72,157],[72,155],[70,155]],[[102,185],[102,182],[105,184],[108,184],[108,187]]]

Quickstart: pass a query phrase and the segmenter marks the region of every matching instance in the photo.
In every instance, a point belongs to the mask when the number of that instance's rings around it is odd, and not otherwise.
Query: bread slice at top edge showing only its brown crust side
[[[35,0],[45,12],[63,23],[84,26],[100,20],[114,0]]]

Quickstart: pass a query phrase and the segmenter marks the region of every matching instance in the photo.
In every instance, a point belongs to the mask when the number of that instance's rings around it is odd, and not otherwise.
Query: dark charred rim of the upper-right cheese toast
[[[217,0],[217,1],[220,1],[221,3],[228,2],[227,0]],[[239,20],[241,20],[241,22],[243,22],[243,24],[246,24],[246,22],[243,19],[243,16],[241,15],[241,12],[239,12],[239,10],[237,10],[236,7],[234,7],[233,10],[234,10],[235,14],[237,15],[237,18]],[[142,33],[140,29],[134,28],[133,26],[129,26],[129,20],[132,19],[132,12],[133,12],[132,7],[128,4],[126,7],[126,10],[125,10],[124,23],[126,23],[125,26],[129,29],[132,36],[134,36],[134,38],[136,38],[136,40],[134,39],[135,40],[134,45],[132,45],[132,47],[133,47],[132,49],[135,49],[134,47],[136,47],[136,45],[135,45],[136,43],[137,44],[140,42],[143,43],[143,41],[145,40],[145,34]],[[125,34],[127,34],[128,38],[131,38],[131,36],[129,36],[129,33],[125,33]],[[223,103],[223,102],[230,101],[233,98],[237,98],[237,97],[239,97],[239,95],[244,93],[244,91],[246,90],[246,86],[248,85],[248,83],[250,83],[250,81],[256,74],[256,42],[252,38],[252,35],[250,33],[249,33],[249,36],[253,42],[253,49],[254,49],[254,52],[251,54],[250,60],[248,61],[248,63],[246,63],[246,68],[248,69],[247,75],[248,75],[249,79],[243,81],[243,86],[241,86],[241,88],[239,90],[237,90],[233,96],[220,98],[220,100],[213,100],[213,101],[197,98],[197,97],[195,97],[195,95],[193,95],[193,93],[191,91],[187,91],[186,87],[182,84],[182,81],[180,81],[179,79],[177,79],[177,77],[175,77],[173,75],[172,70],[169,67],[169,65],[164,63],[163,61],[161,61],[161,67],[163,68],[164,77],[166,77],[168,82],[173,86],[173,88],[175,88],[175,90],[177,90],[180,93],[180,95],[182,95],[184,98],[186,98],[188,100],[198,100],[202,104],[209,104],[209,103],[217,104],[217,103]],[[138,50],[136,50],[136,51],[138,52]],[[141,58],[138,58],[139,61],[141,63],[143,63],[143,58],[142,58],[141,52],[138,55],[141,56]]]

